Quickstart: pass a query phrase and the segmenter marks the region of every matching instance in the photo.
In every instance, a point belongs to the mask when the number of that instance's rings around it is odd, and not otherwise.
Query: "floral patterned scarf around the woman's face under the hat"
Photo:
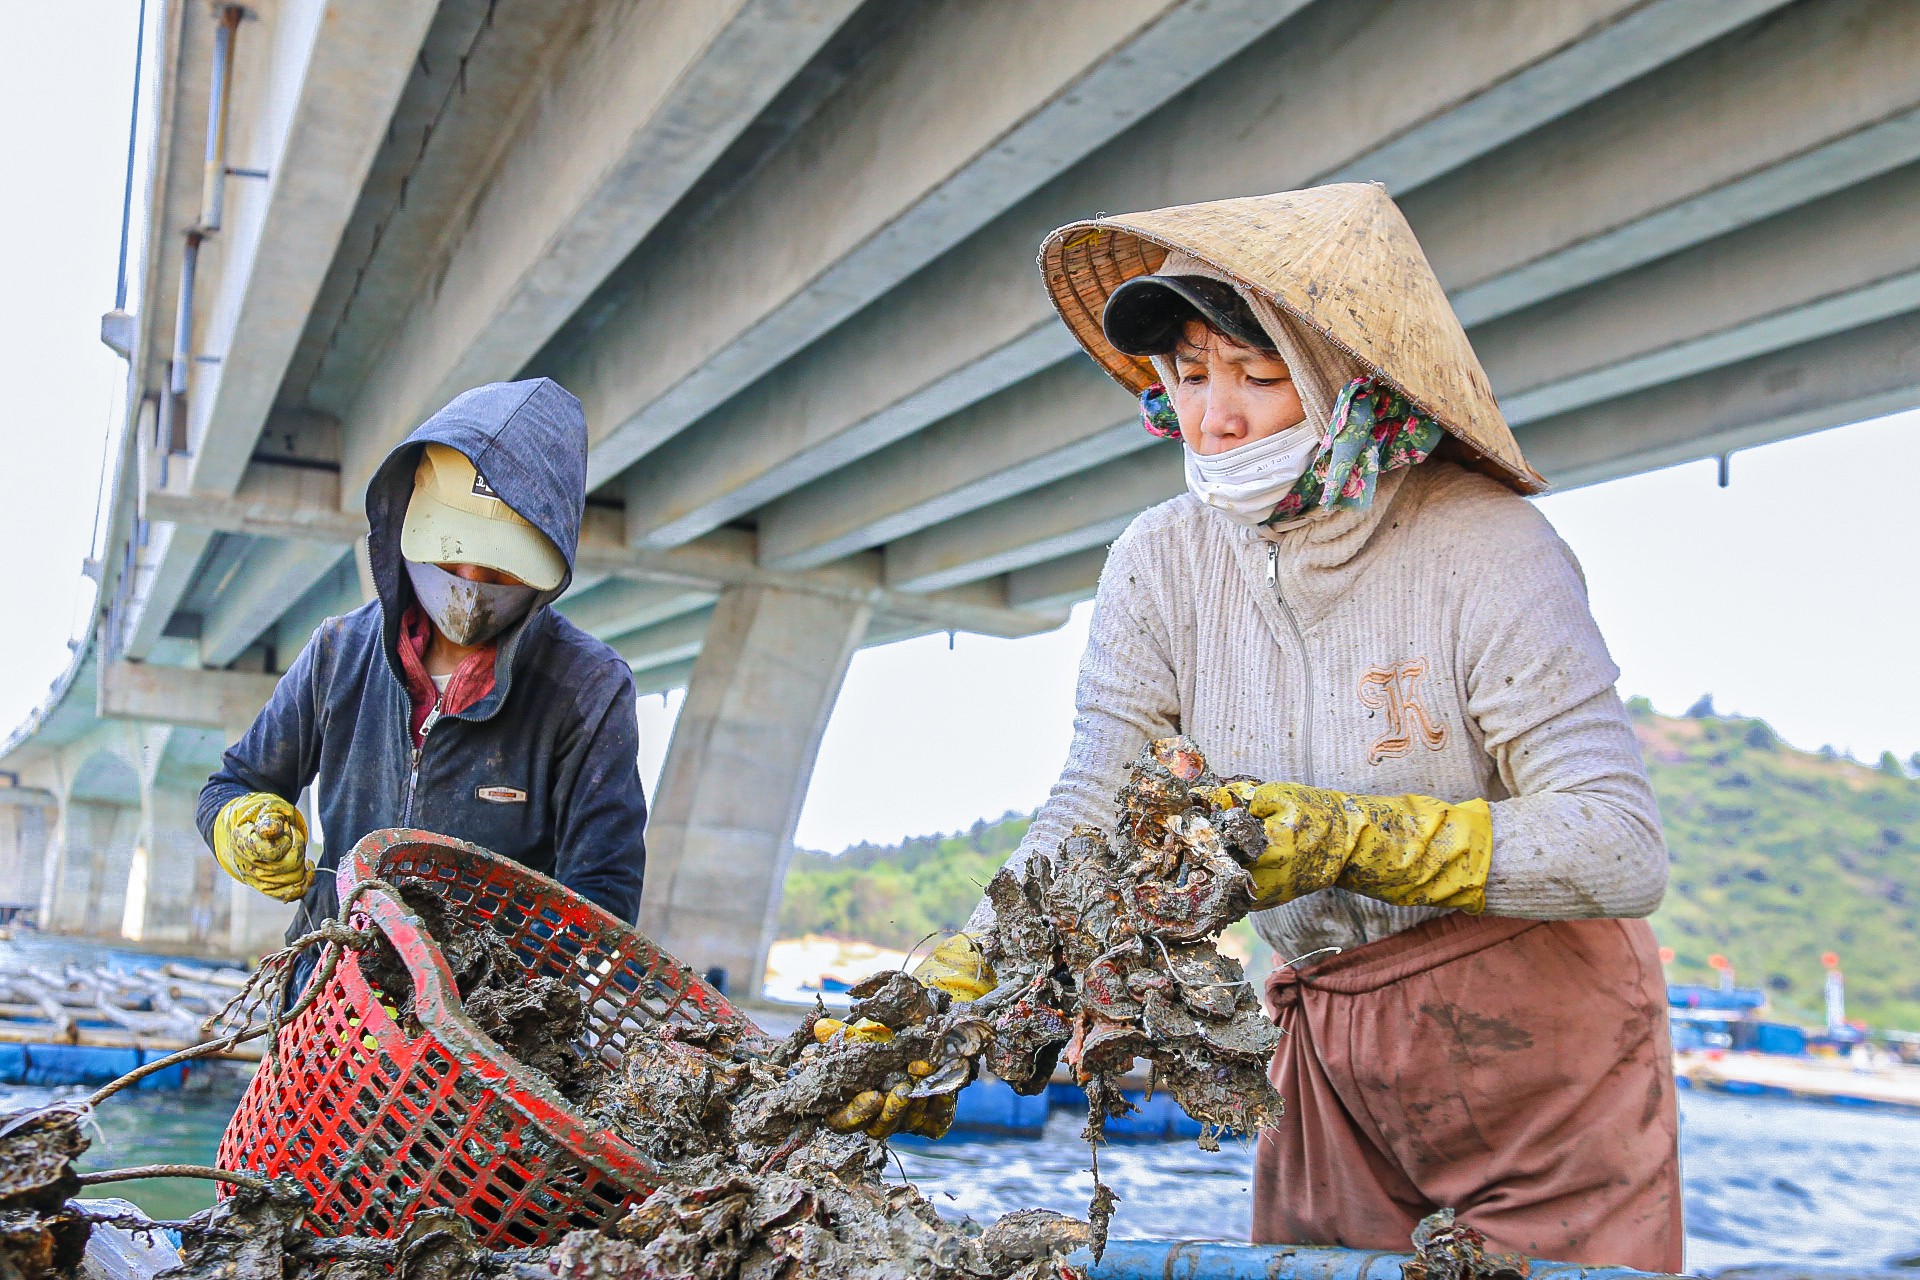
[[[1140,422],[1162,439],[1181,438],[1167,388],[1140,393]],[[1442,426],[1413,407],[1384,378],[1354,378],[1332,405],[1319,457],[1267,516],[1267,524],[1298,520],[1313,510],[1365,510],[1380,472],[1425,462],[1440,445]]]

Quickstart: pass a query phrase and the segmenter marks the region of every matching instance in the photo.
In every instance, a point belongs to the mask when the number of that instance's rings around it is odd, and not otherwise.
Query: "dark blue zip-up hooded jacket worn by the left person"
[[[465,453],[509,507],[553,539],[566,557],[566,576],[497,637],[493,689],[470,708],[440,716],[415,764],[397,656],[413,583],[399,535],[428,443]],[[620,919],[639,917],[647,800],[634,672],[551,608],[572,581],[586,474],[586,415],[549,378],[457,395],[374,472],[367,549],[378,599],[319,626],[200,793],[200,835],[211,846],[213,819],[234,796],[271,791],[294,802],[319,779],[323,871],[288,938],[334,915],[338,892],[326,871],[382,827],[472,841]]]

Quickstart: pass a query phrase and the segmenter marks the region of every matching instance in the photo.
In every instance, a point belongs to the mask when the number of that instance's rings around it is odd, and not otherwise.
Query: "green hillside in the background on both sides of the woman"
[[[1713,981],[1707,958],[1722,954],[1782,1015],[1816,1021],[1832,950],[1851,1017],[1920,1027],[1920,781],[1891,756],[1876,768],[1795,750],[1761,720],[1632,706],[1674,860],[1653,917],[1674,981]],[[780,933],[904,950],[956,929],[1025,827],[1010,814],[897,846],[803,852]]]

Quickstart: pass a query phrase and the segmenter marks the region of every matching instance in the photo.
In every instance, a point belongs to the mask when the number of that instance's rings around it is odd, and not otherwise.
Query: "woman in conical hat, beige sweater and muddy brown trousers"
[[[1288,1034],[1254,1236],[1680,1268],[1659,814],[1572,553],[1386,192],[1054,232],[1081,345],[1185,449],[1114,543],[1073,748],[1016,858],[1187,733],[1265,819]],[[987,908],[975,927],[989,923]],[[1338,948],[1338,950],[1332,950]]]

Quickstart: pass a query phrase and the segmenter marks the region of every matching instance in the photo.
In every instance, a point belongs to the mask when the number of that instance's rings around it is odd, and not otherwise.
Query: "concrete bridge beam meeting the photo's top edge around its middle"
[[[643,288],[563,363],[559,380],[595,426],[589,484],[626,470],[1302,4],[922,10],[724,209],[662,242]]]

